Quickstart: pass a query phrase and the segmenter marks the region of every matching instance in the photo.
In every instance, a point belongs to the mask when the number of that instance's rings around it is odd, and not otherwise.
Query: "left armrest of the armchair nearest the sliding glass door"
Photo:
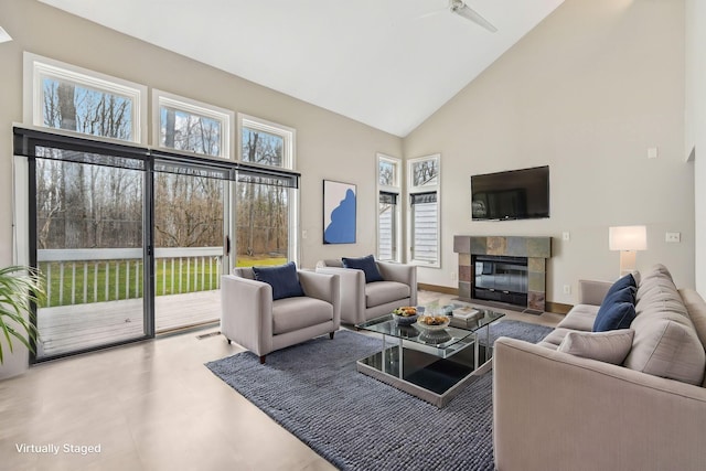
[[[233,275],[221,277],[221,332],[258,355],[271,351],[272,287]]]

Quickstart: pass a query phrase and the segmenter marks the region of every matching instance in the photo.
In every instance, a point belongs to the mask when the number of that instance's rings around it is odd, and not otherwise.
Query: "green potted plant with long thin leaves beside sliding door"
[[[39,270],[22,266],[0,269],[0,364],[4,363],[3,336],[10,352],[13,338],[34,351],[32,340],[38,331],[32,321],[32,303],[41,304],[45,298]]]

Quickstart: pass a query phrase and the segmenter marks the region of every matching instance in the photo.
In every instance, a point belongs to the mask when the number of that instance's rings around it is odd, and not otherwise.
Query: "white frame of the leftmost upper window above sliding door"
[[[23,120],[25,125],[32,125],[43,129],[60,130],[58,128],[44,126],[44,87],[42,82],[45,77],[52,77],[68,81],[104,93],[127,96],[132,100],[132,139],[129,141],[106,136],[87,135],[81,131],[64,129],[61,129],[61,131],[66,131],[77,136],[89,136],[92,139],[108,139],[111,141],[135,142],[140,144],[147,143],[147,86],[29,52],[24,52],[23,61]]]

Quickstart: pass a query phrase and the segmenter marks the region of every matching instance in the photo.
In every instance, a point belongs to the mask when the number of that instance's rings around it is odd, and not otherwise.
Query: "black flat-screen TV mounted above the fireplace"
[[[471,176],[471,218],[549,217],[549,167]]]

